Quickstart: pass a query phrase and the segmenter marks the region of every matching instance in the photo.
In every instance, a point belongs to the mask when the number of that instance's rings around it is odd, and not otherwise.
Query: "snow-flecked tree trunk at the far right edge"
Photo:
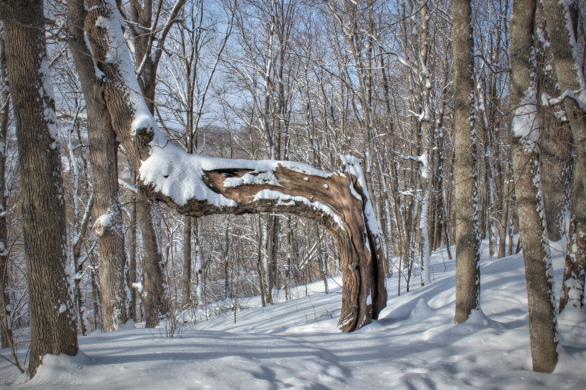
[[[560,298],[560,311],[568,302],[573,306],[584,304],[586,277],[586,111],[578,105],[573,94],[586,96],[586,82],[581,65],[574,56],[578,2],[543,1],[547,29],[550,34],[551,51],[554,58],[560,91],[570,92],[564,98],[565,113],[570,122],[575,153],[574,175],[570,193],[570,240]]]

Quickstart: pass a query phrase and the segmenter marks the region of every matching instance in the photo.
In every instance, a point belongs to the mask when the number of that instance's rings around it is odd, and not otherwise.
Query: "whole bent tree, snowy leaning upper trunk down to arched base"
[[[359,160],[342,156],[338,172],[287,161],[227,160],[189,154],[167,140],[139,94],[122,18],[113,0],[88,0],[85,30],[112,125],[149,199],[191,216],[295,213],[316,219],[338,245],[344,332],[386,306],[384,254]]]

